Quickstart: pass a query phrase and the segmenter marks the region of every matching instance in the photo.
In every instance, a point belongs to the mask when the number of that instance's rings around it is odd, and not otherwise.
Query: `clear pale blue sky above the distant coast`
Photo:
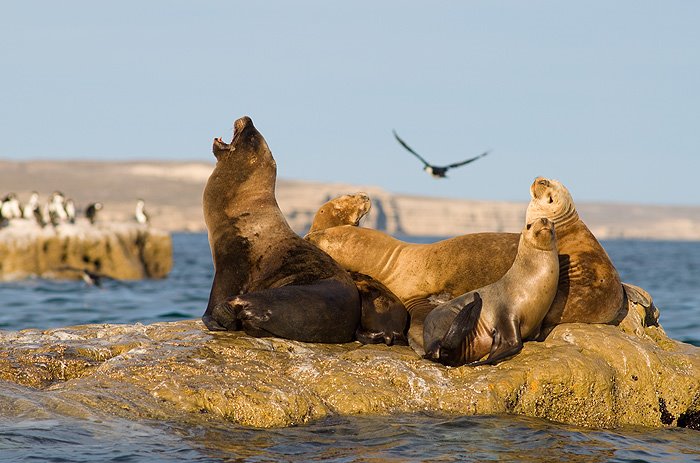
[[[248,115],[284,179],[698,205],[699,21],[693,0],[3,2],[0,159],[213,163]],[[491,153],[435,180],[393,129],[437,165]]]

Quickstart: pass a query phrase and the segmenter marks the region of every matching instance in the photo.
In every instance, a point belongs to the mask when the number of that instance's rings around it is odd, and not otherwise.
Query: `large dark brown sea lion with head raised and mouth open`
[[[350,275],[301,239],[275,199],[277,167],[248,117],[233,141],[214,140],[216,167],[204,189],[214,281],[202,320],[305,342],[352,341],[360,299]]]

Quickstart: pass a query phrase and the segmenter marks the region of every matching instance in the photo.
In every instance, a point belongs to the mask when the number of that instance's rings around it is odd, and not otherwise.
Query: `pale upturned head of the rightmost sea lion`
[[[537,177],[530,186],[530,198],[525,214],[526,223],[532,223],[539,217],[547,217],[555,225],[578,219],[569,190],[558,180]]]

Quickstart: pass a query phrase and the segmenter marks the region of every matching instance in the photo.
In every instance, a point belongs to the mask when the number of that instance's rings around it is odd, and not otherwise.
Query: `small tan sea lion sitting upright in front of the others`
[[[494,364],[534,339],[559,282],[554,224],[528,223],[513,265],[500,280],[435,307],[425,319],[426,358],[446,365]],[[489,354],[486,360],[479,361]]]

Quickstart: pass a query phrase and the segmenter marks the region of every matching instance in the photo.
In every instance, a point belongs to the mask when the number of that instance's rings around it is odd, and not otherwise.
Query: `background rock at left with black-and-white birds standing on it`
[[[0,228],[0,280],[80,279],[81,270],[119,280],[164,278],[172,260],[170,234],[135,223],[41,228],[15,219]]]

